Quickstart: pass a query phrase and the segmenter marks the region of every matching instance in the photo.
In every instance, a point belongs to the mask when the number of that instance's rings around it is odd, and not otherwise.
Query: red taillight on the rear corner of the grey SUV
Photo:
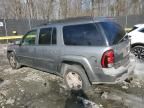
[[[103,68],[110,68],[114,64],[114,51],[108,50],[106,51],[101,59],[101,65]]]

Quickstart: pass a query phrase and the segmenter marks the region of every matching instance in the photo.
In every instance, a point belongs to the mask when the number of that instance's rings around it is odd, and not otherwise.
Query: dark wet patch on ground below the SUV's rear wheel
[[[85,108],[83,99],[88,100],[83,90],[71,90],[70,96],[65,102],[65,108]]]

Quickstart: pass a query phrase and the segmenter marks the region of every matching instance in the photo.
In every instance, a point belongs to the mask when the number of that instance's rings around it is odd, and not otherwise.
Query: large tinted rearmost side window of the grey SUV
[[[65,45],[104,46],[105,40],[95,24],[70,25],[63,28]]]

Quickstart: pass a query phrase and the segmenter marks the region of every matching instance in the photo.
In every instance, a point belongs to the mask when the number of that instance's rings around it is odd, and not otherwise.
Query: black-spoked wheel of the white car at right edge
[[[131,52],[135,55],[137,59],[144,61],[144,46],[134,46],[132,47]]]

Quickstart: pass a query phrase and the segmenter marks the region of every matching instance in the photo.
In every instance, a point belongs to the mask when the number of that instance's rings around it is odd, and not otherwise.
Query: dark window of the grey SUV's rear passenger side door
[[[56,44],[56,28],[42,28],[39,34],[40,45]]]

